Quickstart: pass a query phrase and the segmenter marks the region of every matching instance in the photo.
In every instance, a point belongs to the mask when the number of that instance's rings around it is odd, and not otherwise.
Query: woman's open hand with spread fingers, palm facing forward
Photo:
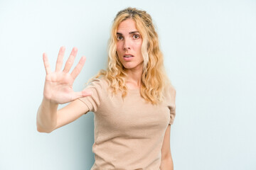
[[[46,81],[43,90],[43,96],[50,102],[63,104],[74,101],[77,98],[90,96],[92,94],[91,91],[73,91],[73,82],[75,81],[75,78],[78,77],[78,74],[80,74],[82,67],[85,64],[85,56],[83,56],[81,57],[75,69],[69,73],[77,52],[78,49],[73,47],[73,50],[70,53],[67,62],[65,63],[65,67],[63,71],[61,71],[65,47],[60,47],[55,72],[51,72],[48,57],[46,53],[43,53],[43,64],[46,68]]]

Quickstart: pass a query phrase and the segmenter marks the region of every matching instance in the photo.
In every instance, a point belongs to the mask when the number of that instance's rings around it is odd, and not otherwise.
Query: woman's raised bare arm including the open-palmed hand
[[[84,96],[90,96],[90,91],[73,91],[73,82],[80,73],[85,57],[82,57],[78,65],[69,74],[70,68],[75,60],[77,48],[73,48],[63,71],[60,71],[63,64],[63,55],[65,48],[61,47],[56,62],[55,72],[50,71],[50,64],[46,53],[43,54],[43,63],[46,68],[46,81],[43,90],[43,101],[38,108],[36,117],[36,125],[38,132],[52,132],[56,128],[60,128],[79,118],[89,109],[83,105],[81,101],[76,100]],[[58,109],[58,104],[69,103],[68,106]]]

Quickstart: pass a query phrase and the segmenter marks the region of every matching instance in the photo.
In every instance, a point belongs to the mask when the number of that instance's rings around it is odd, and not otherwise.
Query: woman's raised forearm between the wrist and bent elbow
[[[36,125],[38,132],[51,132],[57,124],[58,104],[51,103],[43,98],[41,106],[38,108],[36,115]]]

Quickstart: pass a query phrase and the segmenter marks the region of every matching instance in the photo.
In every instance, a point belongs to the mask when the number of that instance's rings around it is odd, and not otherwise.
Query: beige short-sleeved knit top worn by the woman
[[[139,89],[124,99],[112,96],[107,81],[95,79],[87,86],[92,96],[80,98],[95,113],[95,164],[100,169],[152,169],[161,164],[164,133],[175,118],[175,93],[170,87],[165,101],[154,106],[144,101]]]

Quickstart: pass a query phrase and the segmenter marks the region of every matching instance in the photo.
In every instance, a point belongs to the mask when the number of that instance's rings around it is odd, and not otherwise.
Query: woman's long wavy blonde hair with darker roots
[[[140,94],[142,98],[152,104],[161,102],[164,98],[164,89],[169,84],[169,79],[164,71],[164,57],[159,48],[159,38],[152,23],[151,16],[146,11],[137,8],[125,8],[117,13],[112,24],[108,47],[107,70],[100,70],[95,76],[104,77],[110,85],[113,94],[122,92],[122,97],[127,95],[125,85],[124,67],[117,56],[117,28],[119,23],[132,18],[142,35],[143,72]]]

